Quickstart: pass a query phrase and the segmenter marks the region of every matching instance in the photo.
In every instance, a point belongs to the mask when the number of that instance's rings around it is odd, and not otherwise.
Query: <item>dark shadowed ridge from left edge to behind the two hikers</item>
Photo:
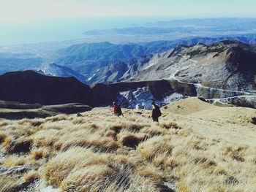
[[[146,88],[155,100],[163,99],[167,93],[196,96],[193,85],[175,81],[119,82],[89,86],[75,77],[52,77],[35,71],[0,75],[0,87],[1,100],[42,105],[80,103],[91,107],[109,106],[118,100],[120,92],[138,88]]]

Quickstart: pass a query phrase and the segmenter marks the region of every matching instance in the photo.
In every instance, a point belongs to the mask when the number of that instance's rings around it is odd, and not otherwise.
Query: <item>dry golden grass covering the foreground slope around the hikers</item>
[[[256,188],[255,110],[185,99],[162,109],[160,123],[151,122],[150,111],[123,112],[124,118],[97,108],[83,117],[0,120],[3,166],[33,165],[40,171],[17,182],[41,178],[62,191]]]

